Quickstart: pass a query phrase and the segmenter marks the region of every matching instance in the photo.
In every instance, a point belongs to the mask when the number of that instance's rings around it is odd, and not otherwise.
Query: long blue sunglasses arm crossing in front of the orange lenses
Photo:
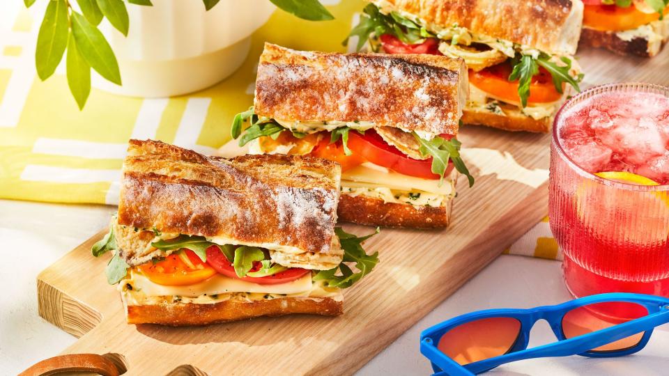
[[[582,336],[560,340],[548,345],[542,345],[532,349],[512,352],[500,355],[499,357],[470,363],[467,365],[467,369],[473,373],[481,373],[484,370],[512,361],[541,357],[567,357],[569,355],[581,354],[608,343],[613,343],[616,340],[633,336],[642,331],[652,330],[654,327],[666,324],[667,322],[669,322],[669,309],[662,308],[662,311],[658,313],[653,313],[643,318],[594,331],[590,334],[583,334]]]

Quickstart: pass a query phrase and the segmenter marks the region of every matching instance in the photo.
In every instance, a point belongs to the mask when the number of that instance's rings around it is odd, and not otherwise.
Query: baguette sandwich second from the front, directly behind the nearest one
[[[466,102],[461,58],[301,52],[266,44],[254,107],[233,139],[252,153],[341,165],[337,215],[357,224],[443,228],[458,173]]]

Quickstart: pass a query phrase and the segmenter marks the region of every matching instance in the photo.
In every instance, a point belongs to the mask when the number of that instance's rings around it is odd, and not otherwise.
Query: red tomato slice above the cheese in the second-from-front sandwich
[[[432,173],[432,158],[413,159],[385,142],[374,130],[364,131],[364,135],[357,132],[348,134],[348,148],[353,150],[354,155],[361,155],[369,162],[378,164],[392,171],[404,175],[415,176],[424,179],[439,179],[439,175]],[[446,174],[453,169],[449,162]]]

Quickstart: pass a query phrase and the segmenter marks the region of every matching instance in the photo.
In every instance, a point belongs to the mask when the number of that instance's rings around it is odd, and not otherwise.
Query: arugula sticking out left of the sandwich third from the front
[[[363,14],[360,15],[360,22],[351,30],[348,38],[357,36],[356,51],[360,51],[364,43],[371,40],[372,36],[378,38],[383,34],[396,36],[402,42],[410,45],[422,43],[425,38],[435,37],[433,33],[399,13],[392,12],[384,15],[377,6],[369,4],[364,7]],[[342,42],[343,45],[348,44],[348,38]],[[378,51],[378,48],[371,47],[375,52]]]

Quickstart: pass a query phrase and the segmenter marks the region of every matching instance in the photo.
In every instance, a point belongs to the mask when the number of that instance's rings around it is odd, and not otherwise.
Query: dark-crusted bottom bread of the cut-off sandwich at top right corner
[[[619,55],[652,57],[669,40],[669,18],[640,26],[635,31],[601,31],[584,27],[580,45],[601,47]]]

